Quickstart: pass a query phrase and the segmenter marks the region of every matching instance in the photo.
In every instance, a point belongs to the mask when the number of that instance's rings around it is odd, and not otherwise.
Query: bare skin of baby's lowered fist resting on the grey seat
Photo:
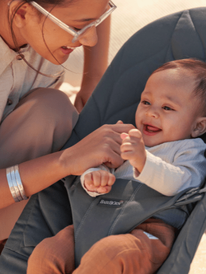
[[[98,170],[85,175],[85,187],[88,191],[108,193],[115,183],[115,176],[108,171]]]

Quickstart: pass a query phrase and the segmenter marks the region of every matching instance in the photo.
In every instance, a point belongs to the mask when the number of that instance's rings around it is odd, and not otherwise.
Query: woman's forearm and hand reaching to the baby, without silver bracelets
[[[132,125],[104,125],[79,143],[65,150],[19,164],[19,174],[26,196],[50,186],[69,175],[81,175],[88,168],[109,162],[111,167],[122,164],[120,157],[121,132],[128,132]],[[0,208],[14,203],[6,169],[0,170]]]

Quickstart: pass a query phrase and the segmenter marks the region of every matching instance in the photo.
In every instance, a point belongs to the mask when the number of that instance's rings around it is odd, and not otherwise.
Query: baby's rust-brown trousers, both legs
[[[72,229],[66,227],[37,245],[27,274],[153,274],[169,255],[174,239],[172,226],[151,218],[129,234],[112,235],[95,243],[72,272]],[[143,231],[159,239],[150,239]]]

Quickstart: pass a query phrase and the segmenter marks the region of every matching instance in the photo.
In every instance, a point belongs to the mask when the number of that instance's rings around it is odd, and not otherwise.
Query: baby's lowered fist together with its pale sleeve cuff
[[[86,170],[81,176],[81,183],[90,196],[96,197],[111,190],[115,183],[115,176],[110,173],[108,167],[102,164]]]

